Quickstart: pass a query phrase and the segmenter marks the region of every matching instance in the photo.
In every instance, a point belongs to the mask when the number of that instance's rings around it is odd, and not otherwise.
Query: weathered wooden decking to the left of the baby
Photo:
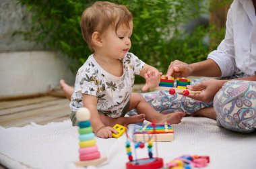
[[[142,85],[136,84],[133,91],[140,92]],[[23,127],[30,122],[44,125],[69,119],[69,101],[60,90],[42,97],[0,101],[0,126]]]

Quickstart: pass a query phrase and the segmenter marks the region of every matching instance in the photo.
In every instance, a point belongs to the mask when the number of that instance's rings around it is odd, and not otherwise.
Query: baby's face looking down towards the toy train
[[[108,57],[115,59],[124,58],[125,54],[127,54],[131,48],[132,33],[132,21],[129,23],[129,26],[122,24],[117,27],[117,32],[115,32],[115,27],[108,27],[102,36],[102,48],[104,48],[105,53],[108,54]]]

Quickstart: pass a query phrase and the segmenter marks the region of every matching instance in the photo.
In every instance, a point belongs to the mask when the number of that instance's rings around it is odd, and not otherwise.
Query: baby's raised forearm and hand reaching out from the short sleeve
[[[145,64],[139,74],[146,79],[146,84],[142,88],[142,91],[148,90],[150,87],[156,87],[160,83],[160,76],[162,72],[159,72],[153,66]]]

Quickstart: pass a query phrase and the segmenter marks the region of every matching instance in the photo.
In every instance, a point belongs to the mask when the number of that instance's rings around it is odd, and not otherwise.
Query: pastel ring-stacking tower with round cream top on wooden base
[[[79,108],[76,112],[79,132],[79,162],[76,166],[97,166],[106,161],[106,157],[100,156],[94,133],[92,132],[90,111],[85,107]]]

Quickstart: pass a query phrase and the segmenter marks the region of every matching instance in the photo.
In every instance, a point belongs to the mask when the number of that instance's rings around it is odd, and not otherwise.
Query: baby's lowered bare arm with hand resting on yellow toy
[[[90,121],[92,123],[92,129],[97,137],[111,138],[112,133],[118,133],[113,127],[104,125],[100,120],[97,110],[97,97],[83,94],[82,100],[84,107],[88,108],[91,112]]]

